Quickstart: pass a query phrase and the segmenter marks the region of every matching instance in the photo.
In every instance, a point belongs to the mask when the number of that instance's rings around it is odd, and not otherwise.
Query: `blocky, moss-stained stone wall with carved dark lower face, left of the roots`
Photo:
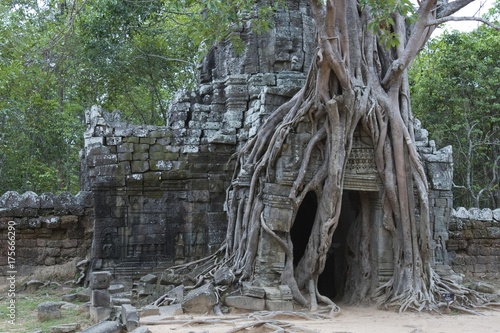
[[[93,269],[133,276],[219,247],[231,146],[201,143],[193,133],[186,137],[167,127],[129,125],[98,107],[86,119]]]

